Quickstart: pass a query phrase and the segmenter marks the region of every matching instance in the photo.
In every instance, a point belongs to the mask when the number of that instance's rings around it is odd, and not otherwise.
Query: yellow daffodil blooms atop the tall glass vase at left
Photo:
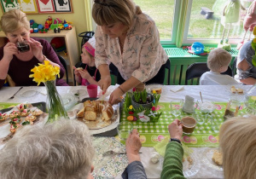
[[[55,80],[56,75],[60,78],[60,67],[52,66],[49,61],[44,61],[44,64],[38,63],[39,66],[32,68],[33,74],[29,75],[33,78],[33,81],[37,82],[38,85],[47,81]]]

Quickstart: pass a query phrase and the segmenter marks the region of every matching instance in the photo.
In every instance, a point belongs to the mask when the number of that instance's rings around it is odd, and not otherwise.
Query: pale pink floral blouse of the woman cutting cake
[[[147,14],[137,14],[125,38],[123,54],[119,38],[103,34],[101,26],[96,28],[96,67],[113,63],[121,76],[127,80],[134,77],[147,82],[159,72],[168,56],[160,44],[157,27]]]

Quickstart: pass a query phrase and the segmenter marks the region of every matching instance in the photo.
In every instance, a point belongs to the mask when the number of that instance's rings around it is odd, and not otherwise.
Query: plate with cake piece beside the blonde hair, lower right
[[[204,164],[215,170],[223,170],[223,154],[218,148],[207,148],[201,153],[201,159]]]

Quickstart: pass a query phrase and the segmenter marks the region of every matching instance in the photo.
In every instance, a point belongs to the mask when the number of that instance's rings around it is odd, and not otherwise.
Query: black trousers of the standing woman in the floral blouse
[[[149,81],[147,81],[145,84],[164,84],[166,76],[166,64],[162,65],[160,67],[159,72],[154,76],[154,78],[151,78]],[[117,84],[123,84],[125,82],[125,79],[122,78],[119,71],[117,74]]]

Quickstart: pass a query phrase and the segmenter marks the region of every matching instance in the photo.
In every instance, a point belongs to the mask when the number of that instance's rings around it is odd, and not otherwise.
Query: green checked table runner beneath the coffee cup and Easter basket
[[[177,103],[172,103],[172,105]],[[168,124],[171,124],[175,117],[172,115],[170,102],[160,102],[159,107],[162,115],[158,122],[143,123],[140,120],[128,121],[124,110],[122,110],[120,122],[121,129],[131,130],[137,128],[140,133],[140,138],[143,147],[153,147],[155,144],[162,141],[165,137],[169,137]],[[196,118],[204,118],[205,123],[196,124],[192,135],[183,135],[183,142],[188,147],[217,147],[218,146],[218,130],[224,122],[224,111],[227,102],[215,102],[216,110],[210,114],[201,113],[196,109],[194,114],[181,113],[178,119],[185,116],[192,116]],[[246,111],[241,105],[238,116],[246,114]],[[194,116],[193,116],[194,115]],[[124,142],[124,141],[122,141]]]

